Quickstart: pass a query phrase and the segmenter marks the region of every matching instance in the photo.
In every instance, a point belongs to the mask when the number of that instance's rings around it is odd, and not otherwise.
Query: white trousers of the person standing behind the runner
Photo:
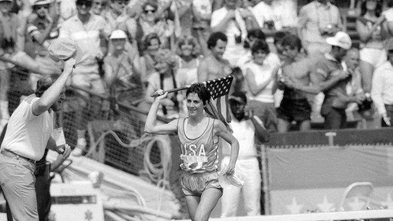
[[[221,166],[229,163],[230,157],[224,157]],[[244,209],[249,216],[261,214],[261,174],[259,171],[258,159],[238,159],[236,161],[235,173],[243,181],[244,185],[239,188],[229,186],[224,188],[221,197],[222,212],[221,217],[236,216],[238,205],[240,204],[240,195],[243,198]]]

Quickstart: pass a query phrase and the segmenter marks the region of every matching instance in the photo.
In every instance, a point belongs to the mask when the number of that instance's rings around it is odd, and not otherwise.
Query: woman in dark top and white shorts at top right
[[[356,21],[356,30],[359,34],[360,44],[360,72],[364,92],[371,90],[371,80],[374,69],[387,60],[384,50],[383,28],[385,16],[382,12],[382,1],[365,0],[361,3],[360,16]]]

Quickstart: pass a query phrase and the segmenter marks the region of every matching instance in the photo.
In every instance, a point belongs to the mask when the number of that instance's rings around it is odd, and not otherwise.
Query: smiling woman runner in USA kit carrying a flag
[[[231,145],[227,175],[234,174],[239,153],[239,143],[223,122],[204,115],[204,107],[210,101],[210,92],[201,83],[195,83],[186,92],[188,117],[178,118],[168,124],[156,124],[160,101],[167,92],[157,90],[144,131],[152,134],[178,132],[183,169],[182,190],[192,221],[207,221],[210,213],[223,194],[218,183],[218,140],[223,138]]]

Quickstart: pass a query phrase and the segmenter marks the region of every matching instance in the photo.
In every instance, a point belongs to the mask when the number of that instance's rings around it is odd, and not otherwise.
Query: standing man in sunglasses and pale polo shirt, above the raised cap
[[[89,89],[96,94],[104,94],[105,87],[100,75],[99,61],[104,54],[101,51],[101,41],[105,41],[111,33],[105,19],[99,15],[90,13],[92,0],[77,0],[77,14],[64,21],[60,27],[59,38],[68,38],[73,41],[83,51],[83,57],[73,70],[71,85]],[[75,91],[79,106],[76,108],[75,125],[77,129],[77,145],[75,154],[80,155],[81,150],[86,147],[86,117],[83,117],[83,109],[90,101],[90,95],[84,91]],[[91,111],[100,110],[101,107],[91,107]],[[94,114],[94,113],[92,113]]]

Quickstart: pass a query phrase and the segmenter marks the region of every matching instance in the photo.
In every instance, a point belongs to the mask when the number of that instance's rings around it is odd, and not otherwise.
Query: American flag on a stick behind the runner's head
[[[228,108],[229,89],[233,76],[227,76],[203,82],[211,94],[210,104],[205,108],[206,113],[224,122],[231,122]]]

